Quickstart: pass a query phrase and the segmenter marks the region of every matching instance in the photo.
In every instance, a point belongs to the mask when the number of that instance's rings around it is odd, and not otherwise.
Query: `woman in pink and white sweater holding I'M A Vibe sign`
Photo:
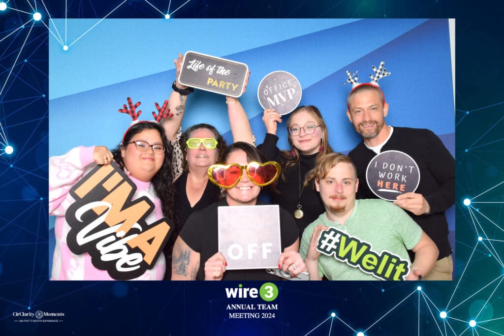
[[[113,280],[107,271],[98,270],[88,253],[76,255],[67,246],[70,226],[65,219],[67,209],[74,203],[70,189],[96,165],[114,161],[124,169],[137,186],[135,200],[147,196],[154,210],[148,224],[167,217],[173,221],[175,193],[172,187],[172,147],[164,129],[156,122],[141,121],[124,133],[117,148],[109,151],[105,146],[78,147],[66,155],[49,159],[49,215],[55,215],[56,246],[53,255],[51,280]],[[161,254],[154,267],[135,280],[162,280],[166,261]]]

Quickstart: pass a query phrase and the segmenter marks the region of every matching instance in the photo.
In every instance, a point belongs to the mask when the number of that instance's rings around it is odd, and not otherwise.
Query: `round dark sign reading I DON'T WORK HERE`
[[[367,185],[378,197],[396,200],[405,192],[415,192],[420,183],[420,170],[415,160],[400,151],[385,151],[367,165]]]

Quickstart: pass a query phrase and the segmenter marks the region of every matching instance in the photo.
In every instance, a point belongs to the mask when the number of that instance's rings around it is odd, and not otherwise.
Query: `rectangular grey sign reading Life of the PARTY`
[[[193,88],[238,98],[247,73],[245,63],[187,51],[178,81]]]

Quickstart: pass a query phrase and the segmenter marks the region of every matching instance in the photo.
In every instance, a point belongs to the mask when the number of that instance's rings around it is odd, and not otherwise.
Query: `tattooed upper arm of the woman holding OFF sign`
[[[173,246],[171,280],[196,280],[200,268],[200,253],[178,237]]]

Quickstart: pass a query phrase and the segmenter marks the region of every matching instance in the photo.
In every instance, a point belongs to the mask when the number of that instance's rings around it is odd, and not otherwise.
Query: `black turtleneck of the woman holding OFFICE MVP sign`
[[[276,189],[279,193],[271,192],[271,203],[278,204],[281,208],[294,217],[294,211],[297,209],[299,203],[299,185],[304,182],[306,173],[315,167],[317,155],[302,155],[299,159],[299,164],[285,170],[287,159],[281,155],[277,147],[278,137],[270,133],[266,133],[264,143],[259,145],[258,148],[263,152],[269,161],[277,161],[282,165],[283,176],[278,179]],[[301,180],[299,180],[299,173],[301,173]],[[284,180],[285,177],[285,180]],[[312,182],[308,184],[301,192],[300,197],[301,210],[304,213],[303,218],[295,219],[299,229],[299,237],[301,237],[304,228],[311,222],[316,220],[322,213],[326,211],[319,192],[315,189]]]

